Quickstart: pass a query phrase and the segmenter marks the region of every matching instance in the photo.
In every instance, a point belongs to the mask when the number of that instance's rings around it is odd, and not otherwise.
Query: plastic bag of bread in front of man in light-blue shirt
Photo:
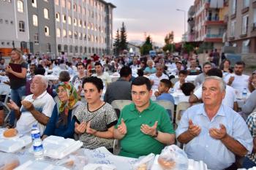
[[[189,166],[187,154],[175,144],[162,150],[158,163],[164,170],[187,170]]]

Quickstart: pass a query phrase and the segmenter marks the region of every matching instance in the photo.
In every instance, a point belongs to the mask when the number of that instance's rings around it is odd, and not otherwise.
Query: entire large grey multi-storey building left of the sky
[[[0,52],[112,54],[113,9],[103,0],[0,0]]]

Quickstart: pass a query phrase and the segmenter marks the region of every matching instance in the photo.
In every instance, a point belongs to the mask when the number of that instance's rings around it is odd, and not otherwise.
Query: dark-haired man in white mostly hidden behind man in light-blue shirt
[[[210,69],[207,73],[207,76],[217,76],[222,78],[222,71],[220,69],[214,68]],[[202,85],[200,85],[195,92],[189,96],[189,103],[196,103],[202,99]],[[226,86],[225,98],[222,100],[222,104],[234,109],[238,109],[238,104],[236,101],[236,92],[234,88],[229,85]]]

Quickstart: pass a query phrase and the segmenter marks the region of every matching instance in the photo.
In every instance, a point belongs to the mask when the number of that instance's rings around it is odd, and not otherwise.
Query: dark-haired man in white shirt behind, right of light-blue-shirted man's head
[[[244,90],[244,88],[248,90],[249,76],[243,74],[244,67],[244,61],[236,62],[234,68],[235,74],[228,74],[224,79],[227,85],[230,85],[231,87],[235,88],[238,91],[238,93],[241,93]]]

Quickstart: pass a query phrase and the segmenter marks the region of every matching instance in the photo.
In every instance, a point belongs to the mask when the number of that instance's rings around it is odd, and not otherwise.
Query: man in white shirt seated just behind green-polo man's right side
[[[160,80],[167,79],[169,80],[169,77],[166,74],[163,74],[164,72],[164,66],[162,64],[157,64],[156,66],[157,72],[154,74],[151,74],[148,79],[151,82],[152,89],[157,89],[158,85],[160,83]]]

